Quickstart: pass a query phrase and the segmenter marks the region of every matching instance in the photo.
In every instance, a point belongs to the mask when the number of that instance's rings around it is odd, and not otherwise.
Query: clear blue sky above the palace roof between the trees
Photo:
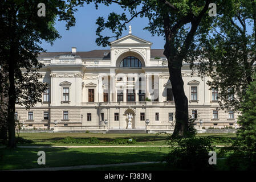
[[[47,9],[46,9],[47,11]],[[96,31],[96,19],[99,16],[107,18],[108,14],[111,12],[118,14],[123,13],[118,5],[104,6],[100,5],[99,9],[95,9],[94,4],[84,5],[84,7],[79,7],[78,11],[75,13],[76,26],[71,27],[70,30],[66,30],[66,22],[56,22],[55,28],[59,31],[62,36],[61,39],[55,40],[53,46],[46,42],[42,42],[42,47],[46,49],[47,52],[52,51],[71,51],[71,47],[76,47],[77,51],[91,51],[94,49],[109,49],[109,47],[97,46],[95,40],[97,38]],[[164,48],[164,38],[162,36],[152,36],[147,30],[143,30],[148,24],[147,18],[134,18],[129,22],[132,26],[132,34],[138,36],[142,39],[148,40],[153,43],[151,48]],[[122,36],[128,34],[129,24],[127,25],[127,30],[123,32]],[[112,36],[111,31],[104,32],[109,36]]]

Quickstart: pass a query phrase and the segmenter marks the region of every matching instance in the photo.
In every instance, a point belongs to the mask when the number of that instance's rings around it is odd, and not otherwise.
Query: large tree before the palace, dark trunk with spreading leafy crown
[[[86,1],[90,3],[91,1]],[[148,27],[152,35],[164,35],[164,55],[168,59],[170,82],[172,84],[173,96],[176,107],[176,125],[173,137],[186,137],[188,134],[188,98],[184,92],[184,82],[181,76],[182,61],[189,56],[193,50],[194,38],[200,31],[205,31],[212,18],[208,15],[209,1],[167,1],[167,0],[145,0],[145,1],[93,1],[96,5],[104,3],[109,6],[116,3],[124,10],[128,10],[131,18],[125,13],[119,15],[110,13],[107,21],[103,17],[97,18],[96,43],[103,47],[109,45],[109,39],[118,39],[123,30],[127,30],[126,24],[137,16],[146,17],[149,20]],[[78,1],[76,5],[82,5],[84,1]],[[113,36],[103,36],[101,32],[109,28]]]

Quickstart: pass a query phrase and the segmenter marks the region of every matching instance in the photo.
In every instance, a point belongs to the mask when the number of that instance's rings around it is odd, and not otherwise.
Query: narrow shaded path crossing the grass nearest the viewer
[[[97,167],[116,167],[116,166],[134,166],[141,164],[157,164],[161,162],[136,162],[136,163],[120,163],[120,164],[99,164],[99,165],[83,165],[83,166],[68,166],[68,167],[45,167],[45,168],[32,168],[32,169],[15,169],[11,171],[63,171],[75,169],[90,169]],[[166,162],[163,162],[166,163]]]

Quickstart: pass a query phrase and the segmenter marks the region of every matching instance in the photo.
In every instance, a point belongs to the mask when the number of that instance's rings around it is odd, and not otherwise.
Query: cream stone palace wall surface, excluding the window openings
[[[110,59],[82,59],[74,55],[60,55],[46,60],[40,59],[45,67],[40,69],[43,75],[41,81],[48,83],[50,88],[50,102],[40,102],[30,110],[17,105],[18,118],[25,121],[28,127],[53,127],[57,126],[99,126],[105,125],[101,119],[108,121],[109,129],[126,129],[126,114],[133,114],[132,128],[145,129],[145,121],[140,121],[140,113],[145,113],[145,119],[149,119],[149,125],[173,125],[175,122],[175,105],[173,101],[166,102],[166,90],[172,88],[169,80],[169,71],[166,59],[151,57],[152,43],[129,35],[111,44]],[[140,59],[143,68],[119,68],[120,61],[125,56],[135,56]],[[153,88],[159,89],[159,101],[138,102],[139,90],[136,90],[136,102],[126,102],[126,89],[133,81],[124,81],[124,102],[117,102],[116,88],[120,74],[141,74],[145,80],[145,97],[153,99]],[[227,110],[219,110],[217,102],[212,102],[212,91],[206,82],[209,77],[201,78],[197,71],[192,71],[188,64],[182,67],[184,90],[189,101],[189,115],[192,110],[197,110],[196,124],[203,122],[205,127],[229,126],[235,123],[228,118]],[[152,77],[152,75],[154,75]],[[133,77],[133,76],[131,76]],[[126,79],[126,78],[125,78]],[[138,78],[135,76],[135,83]],[[153,82],[154,80],[154,82]],[[192,101],[191,87],[197,86],[197,101]],[[63,88],[69,88],[69,102],[63,102]],[[94,89],[94,102],[88,101],[88,90]],[[108,90],[108,102],[103,102],[103,90]],[[43,98],[43,94],[42,94]],[[218,119],[213,119],[213,110],[218,110]],[[33,111],[33,121],[28,121],[28,112]],[[43,112],[49,112],[48,121],[43,120]],[[68,120],[63,119],[63,111],[68,111]],[[91,114],[91,121],[87,121],[87,114]],[[119,113],[119,121],[115,121],[115,113]],[[156,121],[156,113],[159,113],[159,121]],[[173,121],[169,121],[169,113],[173,113]],[[216,125],[217,124],[217,125]]]

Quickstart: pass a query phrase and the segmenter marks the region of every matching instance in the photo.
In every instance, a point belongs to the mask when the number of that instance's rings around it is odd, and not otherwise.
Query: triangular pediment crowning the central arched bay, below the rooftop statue
[[[127,36],[124,36],[123,38],[120,38],[120,39],[117,39],[113,42],[111,42],[111,45],[113,44],[117,44],[117,45],[120,45],[120,44],[148,44],[148,45],[151,45],[152,43],[151,42],[148,42],[147,40],[144,40],[144,39],[141,39],[141,38],[138,38],[137,36],[134,36],[132,34],[129,34]]]

